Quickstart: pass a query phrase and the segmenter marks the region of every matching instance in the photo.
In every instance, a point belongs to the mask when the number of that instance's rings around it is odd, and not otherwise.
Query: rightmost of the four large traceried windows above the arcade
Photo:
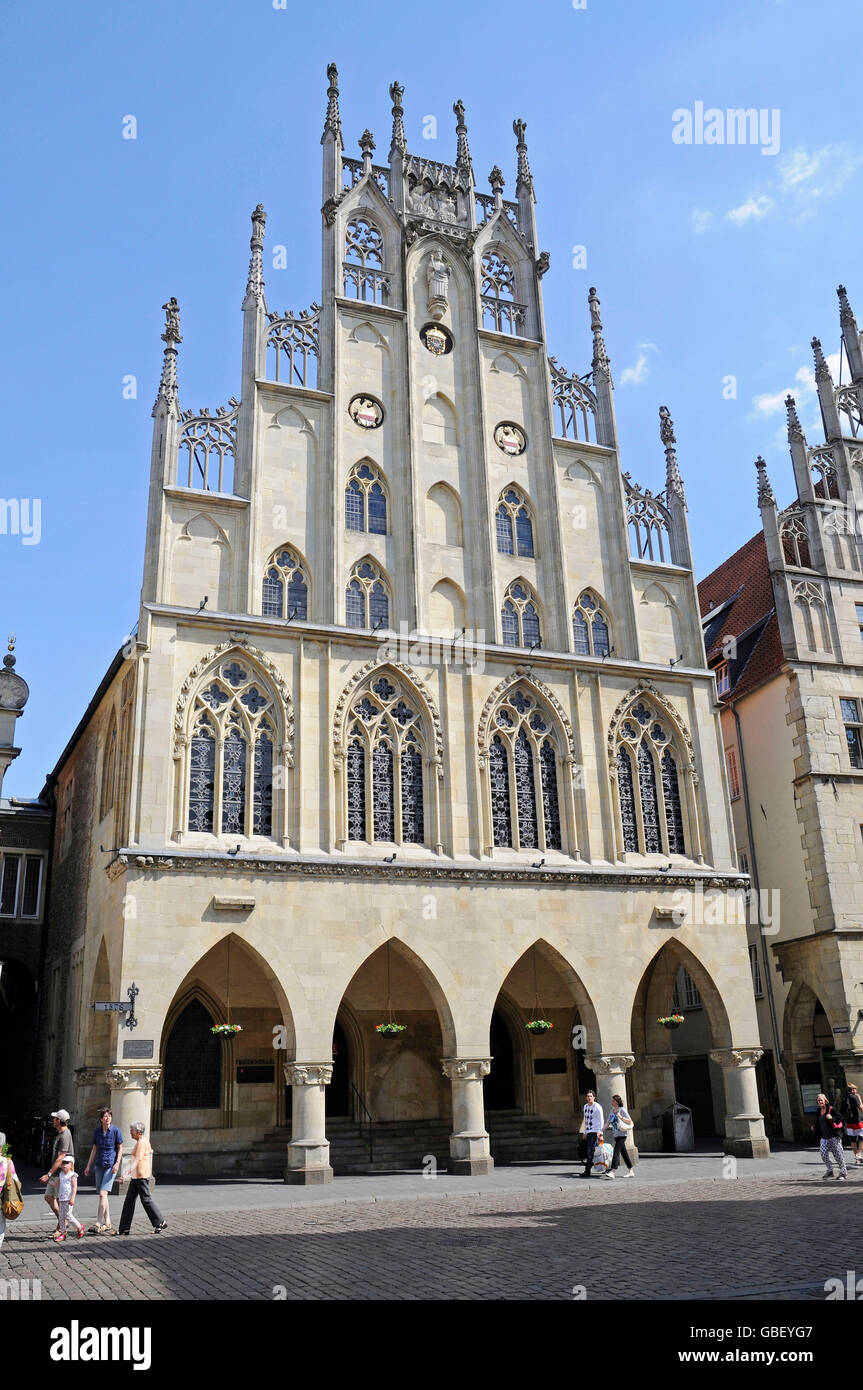
[[[623,849],[685,855],[680,755],[667,719],[639,699],[617,737],[614,769]]]

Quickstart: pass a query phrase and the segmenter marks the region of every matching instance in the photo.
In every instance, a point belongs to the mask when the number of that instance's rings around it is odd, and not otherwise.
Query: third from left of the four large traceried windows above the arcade
[[[500,702],[488,752],[492,844],[561,849],[559,738],[542,702],[521,685]]]

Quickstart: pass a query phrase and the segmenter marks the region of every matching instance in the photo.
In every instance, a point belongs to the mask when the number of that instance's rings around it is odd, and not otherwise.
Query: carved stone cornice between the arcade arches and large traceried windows
[[[638,887],[656,892],[657,888],[745,888],[749,880],[737,872],[713,873],[660,873],[659,870],[632,869],[591,869],[588,865],[578,865],[573,869],[531,869],[527,865],[442,865],[439,860],[428,863],[392,863],[384,865],[379,860],[364,859],[275,859],[258,855],[228,855],[228,853],[190,853],[188,851],[170,851],[158,853],[138,853],[133,849],[124,849],[107,865],[106,873],[110,878],[118,878],[129,870],[142,873],[206,873],[228,874],[231,877],[249,877],[249,874],[270,874],[272,877],[306,877],[306,878],[386,878],[402,883],[428,883],[432,878],[450,883],[529,883],[545,887],[566,888],[574,884],[585,887]]]

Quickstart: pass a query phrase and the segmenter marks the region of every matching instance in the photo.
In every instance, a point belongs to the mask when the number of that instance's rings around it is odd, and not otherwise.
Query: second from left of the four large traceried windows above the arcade
[[[413,691],[381,673],[350,703],[346,840],[425,844],[425,717]]]

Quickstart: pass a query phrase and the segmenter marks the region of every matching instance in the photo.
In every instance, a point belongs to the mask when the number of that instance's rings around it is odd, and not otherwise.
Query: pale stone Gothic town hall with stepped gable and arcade
[[[595,291],[591,370],[549,356],[523,121],[507,200],[460,101],[432,163],[393,83],[377,164],[328,78],[321,303],[270,307],[258,206],[239,399],[199,413],[165,304],[139,627],[51,776],[44,1098],[164,1172],[484,1173],[573,1152],[588,1086],[641,1148],[677,1098],[764,1155],[668,411],[655,492]],[[90,1008],[132,984],[135,1029]]]

